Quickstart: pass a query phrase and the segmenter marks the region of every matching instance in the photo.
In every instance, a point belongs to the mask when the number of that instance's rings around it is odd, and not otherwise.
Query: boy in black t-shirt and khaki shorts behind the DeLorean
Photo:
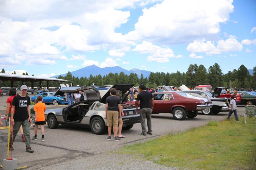
[[[106,118],[107,118],[107,125],[108,125],[108,133],[109,136],[106,138],[107,140],[111,140],[111,129],[113,126],[114,131],[114,141],[121,140],[117,136],[117,125],[118,125],[118,111],[121,117],[122,114],[122,107],[121,107],[121,101],[120,97],[116,96],[116,89],[112,88],[110,89],[110,96],[106,98],[106,106],[105,106],[105,112],[106,112]]]

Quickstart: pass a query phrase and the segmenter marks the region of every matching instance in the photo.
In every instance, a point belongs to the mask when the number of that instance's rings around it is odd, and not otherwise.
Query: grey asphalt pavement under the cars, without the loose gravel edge
[[[47,109],[66,106],[67,105],[48,105]],[[0,111],[3,115],[4,107],[1,107]],[[238,107],[238,115],[242,116],[244,111],[244,106]],[[106,140],[106,133],[103,135],[95,135],[90,129],[63,125],[59,125],[57,129],[49,129],[48,126],[45,125],[45,141],[31,140],[31,147],[34,153],[25,152],[25,143],[22,142],[21,135],[18,133],[13,145],[15,149],[13,151],[13,157],[18,159],[18,167],[28,166],[29,169],[38,169],[39,167],[37,167],[37,165],[47,168],[47,166],[63,165],[62,163],[68,166],[69,162],[74,163],[82,159],[104,154],[108,151],[117,150],[124,145],[143,142],[168,133],[185,131],[190,128],[205,125],[210,120],[223,120],[227,117],[227,114],[228,112],[221,112],[217,115],[210,116],[198,114],[194,119],[186,118],[183,121],[175,120],[171,114],[163,113],[152,115],[153,135],[141,136],[141,125],[137,123],[134,124],[132,129],[123,130],[122,132],[126,138],[117,142],[114,142],[113,139],[111,141]],[[243,117],[240,117],[240,119],[243,119]],[[34,129],[31,128],[30,136],[32,137],[33,134]],[[1,130],[0,164],[2,163],[2,159],[6,158],[7,150],[5,145],[7,143],[7,135],[7,130]],[[40,139],[40,129],[38,136]]]

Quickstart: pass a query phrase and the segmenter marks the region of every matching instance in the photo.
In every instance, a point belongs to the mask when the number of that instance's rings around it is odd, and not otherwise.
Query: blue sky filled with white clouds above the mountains
[[[0,68],[40,77],[93,64],[253,69],[255,16],[255,0],[1,0]]]

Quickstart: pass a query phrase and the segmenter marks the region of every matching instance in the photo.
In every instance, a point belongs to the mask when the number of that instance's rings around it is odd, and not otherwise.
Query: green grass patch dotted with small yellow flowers
[[[118,151],[179,169],[255,169],[256,125],[209,122],[182,133],[164,135]]]

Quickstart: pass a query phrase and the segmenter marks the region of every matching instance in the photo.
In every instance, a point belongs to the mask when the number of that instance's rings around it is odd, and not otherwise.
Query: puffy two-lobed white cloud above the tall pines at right
[[[222,52],[241,51],[243,46],[235,38],[217,41],[215,47],[214,42],[203,40],[195,40],[187,46],[190,52],[205,52],[206,54],[221,54]]]

